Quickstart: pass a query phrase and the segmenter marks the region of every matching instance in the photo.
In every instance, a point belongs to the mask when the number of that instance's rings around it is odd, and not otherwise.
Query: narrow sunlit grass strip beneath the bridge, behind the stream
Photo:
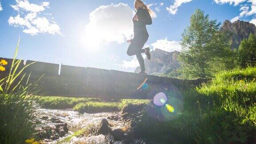
[[[80,113],[116,112],[129,104],[148,104],[149,100],[101,100],[97,98],[68,98],[59,96],[41,96],[42,108],[73,108]]]

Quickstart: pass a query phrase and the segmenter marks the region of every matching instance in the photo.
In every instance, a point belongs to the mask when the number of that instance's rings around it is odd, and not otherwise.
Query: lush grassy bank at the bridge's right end
[[[256,142],[256,68],[220,72],[183,95],[184,109],[169,112],[168,120],[164,107],[148,108],[136,125],[138,136],[173,143]],[[153,117],[152,111],[161,115]]]

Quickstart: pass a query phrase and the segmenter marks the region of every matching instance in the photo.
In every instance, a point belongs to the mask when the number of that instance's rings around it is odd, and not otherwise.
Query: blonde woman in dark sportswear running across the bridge
[[[150,60],[150,49],[142,48],[148,40],[146,25],[152,24],[152,18],[156,17],[156,13],[145,5],[142,0],[135,0],[134,8],[136,9],[136,14],[132,19],[133,39],[127,40],[127,42],[130,43],[127,54],[128,56],[136,55],[140,64],[140,74],[147,74],[145,72],[144,59],[141,53],[145,53],[148,60]]]

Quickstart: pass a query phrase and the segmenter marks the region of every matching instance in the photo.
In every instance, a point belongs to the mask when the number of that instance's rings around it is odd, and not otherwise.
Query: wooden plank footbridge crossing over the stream
[[[12,59],[1,59],[8,61],[8,65],[4,65],[6,71],[0,72],[0,80],[8,76],[12,65]],[[32,62],[34,61],[22,60],[18,72],[25,64]],[[104,99],[152,99],[158,92],[179,91],[208,81],[208,79],[180,80],[133,72],[45,62],[36,62],[25,68],[24,72],[27,74],[31,72],[30,82],[34,82],[44,75],[41,80],[42,91],[47,92],[44,96],[98,97]]]

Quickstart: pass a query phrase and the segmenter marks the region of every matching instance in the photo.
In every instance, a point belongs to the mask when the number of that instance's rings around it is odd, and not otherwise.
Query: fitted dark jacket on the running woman
[[[138,21],[132,19],[134,36],[138,36],[140,34],[145,34],[145,33],[148,34],[146,24],[147,25],[152,24],[152,19],[148,10],[144,8],[138,8],[138,11],[136,12],[135,16],[136,15],[138,16]]]

